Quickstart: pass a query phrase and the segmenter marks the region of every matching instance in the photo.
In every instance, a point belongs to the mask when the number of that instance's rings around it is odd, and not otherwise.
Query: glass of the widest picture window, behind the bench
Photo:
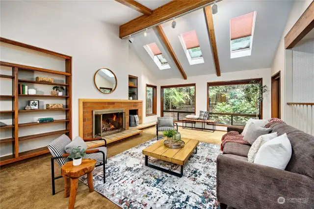
[[[246,121],[256,116],[231,116],[219,113],[260,115],[260,103],[257,102],[259,90],[245,91],[246,87],[259,84],[239,84],[226,86],[209,86],[209,118],[217,124],[245,126]],[[255,88],[254,88],[255,89]],[[258,87],[256,88],[258,89]],[[214,114],[217,113],[217,114]]]

